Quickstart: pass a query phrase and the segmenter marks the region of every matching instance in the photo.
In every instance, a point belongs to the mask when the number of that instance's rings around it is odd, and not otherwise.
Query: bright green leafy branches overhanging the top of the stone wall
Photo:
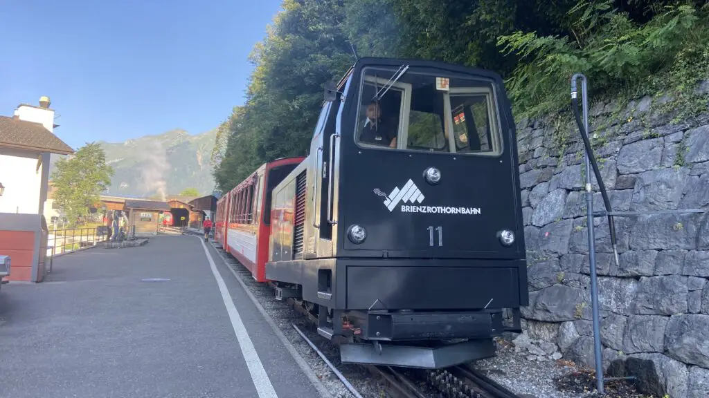
[[[709,43],[705,9],[655,1],[645,10],[652,18],[638,23],[614,3],[580,0],[568,13],[571,35],[516,31],[499,38],[506,54],[521,57],[508,80],[510,98],[520,113],[535,116],[563,108],[574,72],[586,74],[598,96],[618,93],[619,88],[631,90],[630,96],[654,93],[677,83],[680,71],[701,77],[694,68],[696,50],[690,49]],[[681,63],[683,57],[691,57],[692,63]]]

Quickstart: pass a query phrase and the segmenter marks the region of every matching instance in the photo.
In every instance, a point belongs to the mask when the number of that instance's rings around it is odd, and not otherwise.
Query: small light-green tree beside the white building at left
[[[60,159],[52,173],[57,188],[55,203],[65,213],[69,224],[89,213],[99,203],[99,194],[111,185],[113,168],[106,164],[106,153],[95,142],[86,143],[71,157]]]

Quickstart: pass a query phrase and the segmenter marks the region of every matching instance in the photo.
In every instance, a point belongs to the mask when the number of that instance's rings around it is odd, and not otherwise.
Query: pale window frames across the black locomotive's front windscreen
[[[364,108],[362,101],[363,101],[363,96],[364,96],[364,85],[365,84],[373,84],[376,81],[376,84],[386,84],[389,79],[384,79],[381,77],[376,77],[373,76],[372,74],[368,74],[369,69],[374,69],[377,71],[382,71],[382,72],[391,72],[392,74],[396,72],[395,69],[391,68],[389,66],[386,67],[380,67],[380,66],[372,66],[372,67],[364,67],[362,68],[359,76],[359,92],[357,93],[357,112],[355,113],[355,120],[354,120],[354,134],[352,135],[352,140],[354,140],[354,144],[357,145],[357,147],[361,149],[375,149],[375,150],[388,150],[388,151],[403,151],[403,152],[410,152],[410,153],[427,153],[427,154],[438,154],[438,155],[464,155],[468,157],[492,157],[492,158],[499,158],[502,157],[503,154],[505,153],[506,147],[504,145],[504,137],[503,137],[503,131],[501,130],[501,113],[500,113],[500,96],[498,95],[498,85],[496,84],[495,81],[491,79],[487,79],[484,77],[480,76],[450,76],[450,74],[447,74],[445,72],[442,72],[440,74],[434,74],[430,72],[422,72],[422,71],[416,71],[413,70],[411,74],[418,74],[421,76],[428,76],[432,78],[436,77],[445,77],[447,79],[467,79],[470,81],[479,81],[479,82],[484,82],[485,84],[489,84],[489,86],[467,86],[467,87],[449,87],[448,90],[440,90],[443,95],[443,112],[445,113],[444,116],[444,133],[448,135],[448,147],[450,148],[447,152],[443,151],[430,151],[430,150],[425,150],[425,149],[408,149],[406,147],[403,147],[404,145],[408,146],[408,124],[409,124],[409,115],[411,113],[411,94],[412,94],[412,87],[413,85],[410,83],[405,83],[401,81],[396,81],[392,88],[396,87],[397,89],[403,91],[403,95],[401,98],[401,109],[403,111],[399,112],[399,125],[398,125],[398,131],[397,131],[397,136],[396,136],[396,148],[390,148],[390,147],[384,147],[384,146],[378,146],[374,144],[367,144],[366,142],[359,142],[359,130],[361,126],[359,126],[359,118],[362,116],[362,112],[366,112],[366,108]],[[446,76],[448,75],[448,76]],[[453,128],[453,114],[452,114],[452,108],[451,108],[451,103],[450,103],[450,96],[451,94],[454,94],[454,96],[458,95],[484,95],[486,98],[486,105],[488,107],[488,120],[491,123],[491,145],[492,145],[492,151],[490,152],[458,152],[457,146],[455,144],[455,137],[453,135],[454,128]],[[340,107],[341,109],[342,107]],[[338,115],[339,116],[339,115]],[[497,146],[496,146],[497,145]]]

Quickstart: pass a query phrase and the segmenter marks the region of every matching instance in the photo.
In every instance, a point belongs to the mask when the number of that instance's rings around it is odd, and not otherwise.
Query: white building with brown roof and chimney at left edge
[[[12,117],[0,116],[0,213],[43,215],[50,154],[74,153],[54,135],[58,126],[49,106],[43,96],[39,106],[21,104]]]

